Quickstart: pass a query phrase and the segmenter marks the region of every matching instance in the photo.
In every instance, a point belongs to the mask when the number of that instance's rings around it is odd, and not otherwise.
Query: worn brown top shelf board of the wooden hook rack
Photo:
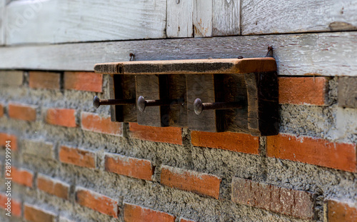
[[[94,71],[101,74],[246,74],[276,71],[273,58],[250,59],[190,59],[164,61],[126,61],[96,64]]]

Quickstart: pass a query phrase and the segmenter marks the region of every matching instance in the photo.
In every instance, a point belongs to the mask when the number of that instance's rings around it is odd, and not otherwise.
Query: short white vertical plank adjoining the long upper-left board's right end
[[[166,36],[192,37],[193,0],[167,0]]]

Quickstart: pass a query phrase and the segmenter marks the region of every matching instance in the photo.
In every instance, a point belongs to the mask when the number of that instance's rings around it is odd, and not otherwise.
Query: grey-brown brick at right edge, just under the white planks
[[[338,79],[338,106],[357,108],[356,77],[340,77]]]

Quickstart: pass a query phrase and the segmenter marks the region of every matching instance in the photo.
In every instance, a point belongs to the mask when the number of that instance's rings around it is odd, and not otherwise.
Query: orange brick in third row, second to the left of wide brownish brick
[[[151,165],[151,161],[118,154],[106,154],[105,168],[106,171],[147,181],[152,181],[154,174],[154,167]]]

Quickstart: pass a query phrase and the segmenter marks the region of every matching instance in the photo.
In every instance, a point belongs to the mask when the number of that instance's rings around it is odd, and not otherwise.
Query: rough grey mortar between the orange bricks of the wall
[[[104,78],[104,84],[108,81]],[[281,105],[282,133],[316,136],[332,141],[357,141],[357,110],[341,109],[336,106],[336,79],[331,80],[331,106]],[[68,201],[51,196],[36,189],[13,185],[14,197],[49,211],[59,212],[59,221],[123,221],[123,212],[114,219],[89,208],[79,206],[74,200],[74,186],[82,186],[102,193],[119,202],[134,203],[139,206],[171,213],[178,218],[196,221],[303,221],[260,208],[239,205],[231,201],[231,181],[234,176],[253,181],[271,183],[284,188],[311,191],[317,195],[317,221],[323,220],[323,199],[344,198],[356,201],[357,173],[348,173],[305,163],[266,158],[265,138],[260,138],[261,154],[250,155],[215,148],[200,148],[191,145],[190,131],[183,129],[183,146],[169,143],[140,141],[127,137],[109,136],[101,133],[82,131],[81,128],[66,128],[44,123],[44,115],[49,107],[71,108],[81,111],[109,114],[108,106],[94,109],[91,100],[94,95],[108,97],[107,88],[103,94],[85,91],[54,91],[22,87],[2,87],[0,102],[7,104],[17,101],[36,104],[39,118],[36,122],[17,121],[4,116],[0,118],[0,131],[14,133],[21,141],[46,141],[54,143],[54,153],[60,144],[84,148],[97,153],[97,168],[81,168],[62,164],[55,154],[53,161],[34,155],[14,154],[14,165],[46,176],[70,183],[71,194]],[[127,125],[124,125],[124,134]],[[31,148],[31,147],[26,147]],[[104,171],[104,153],[119,153],[125,156],[144,158],[156,166],[154,181],[119,176]],[[4,151],[1,151],[4,163]],[[174,166],[191,171],[211,173],[222,178],[220,200],[199,196],[195,193],[180,191],[176,188],[161,186],[161,165]],[[35,174],[36,181],[36,174]],[[0,179],[0,189],[4,191],[4,179]],[[121,208],[120,208],[121,209]],[[1,221],[7,221],[1,211]],[[19,221],[11,218],[10,221]]]

